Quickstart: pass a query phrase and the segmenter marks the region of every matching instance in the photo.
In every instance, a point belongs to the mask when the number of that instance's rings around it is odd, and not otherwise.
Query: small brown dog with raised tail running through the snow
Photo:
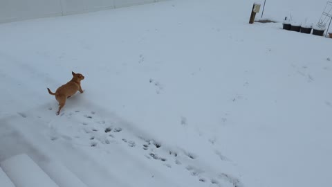
[[[57,115],[60,114],[60,110],[62,109],[62,107],[64,107],[67,98],[73,96],[77,91],[83,93],[81,87],[81,80],[84,79],[84,76],[80,73],[74,73],[73,71],[71,73],[73,74],[73,78],[71,79],[71,81],[59,87],[57,91],[55,91],[55,93],[53,93],[52,91],[50,91],[49,88],[47,88],[48,93],[55,96],[55,99],[57,99],[57,101],[59,102],[59,110],[57,111]]]

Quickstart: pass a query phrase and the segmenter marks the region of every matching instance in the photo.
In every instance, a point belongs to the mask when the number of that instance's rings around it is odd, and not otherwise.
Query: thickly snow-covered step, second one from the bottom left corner
[[[2,161],[0,167],[16,187],[59,187],[26,154]]]

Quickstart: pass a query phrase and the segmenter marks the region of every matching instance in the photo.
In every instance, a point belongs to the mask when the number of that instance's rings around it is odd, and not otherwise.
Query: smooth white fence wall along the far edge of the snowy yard
[[[162,0],[0,0],[0,23],[73,15]]]

